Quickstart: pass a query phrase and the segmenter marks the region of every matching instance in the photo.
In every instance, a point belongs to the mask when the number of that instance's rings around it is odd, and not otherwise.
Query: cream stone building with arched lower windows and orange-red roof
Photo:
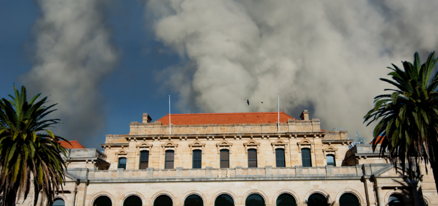
[[[438,206],[425,165],[411,179],[370,144],[352,145],[347,131],[322,130],[307,110],[300,120],[284,112],[142,119],[129,134],[107,135],[104,153],[70,149],[53,205]]]

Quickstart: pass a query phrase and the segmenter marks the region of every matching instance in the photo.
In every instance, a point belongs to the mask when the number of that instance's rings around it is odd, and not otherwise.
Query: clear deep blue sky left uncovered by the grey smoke
[[[167,114],[168,95],[174,96],[172,100],[177,97],[155,81],[155,73],[182,61],[175,53],[159,52],[165,48],[146,31],[144,9],[137,1],[114,1],[107,12],[111,14],[108,22],[121,58],[115,71],[101,85],[107,125],[100,134],[92,137],[98,138],[101,143],[105,141],[106,134],[128,133],[129,123],[141,122],[143,113],[149,113],[153,120]],[[17,78],[32,67],[30,48],[27,47],[32,44],[32,26],[39,15],[39,7],[34,0],[0,0],[1,97],[13,93],[13,82],[21,85]],[[150,51],[144,52],[145,49]]]

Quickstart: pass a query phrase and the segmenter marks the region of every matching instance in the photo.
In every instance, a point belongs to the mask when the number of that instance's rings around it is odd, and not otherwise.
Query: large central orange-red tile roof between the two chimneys
[[[180,124],[261,124],[277,123],[277,112],[246,112],[246,113],[205,113],[205,114],[171,114],[171,123]],[[280,123],[287,123],[288,119],[295,118],[280,112]],[[169,124],[169,114],[156,122]]]

